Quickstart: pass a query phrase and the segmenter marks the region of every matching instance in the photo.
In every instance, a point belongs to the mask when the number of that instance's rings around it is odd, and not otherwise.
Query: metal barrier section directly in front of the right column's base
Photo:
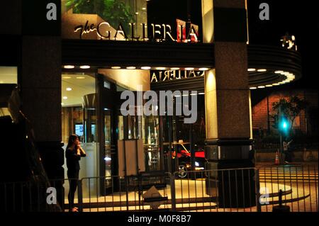
[[[256,171],[254,168],[188,171],[187,178],[175,181],[177,210],[256,211]]]

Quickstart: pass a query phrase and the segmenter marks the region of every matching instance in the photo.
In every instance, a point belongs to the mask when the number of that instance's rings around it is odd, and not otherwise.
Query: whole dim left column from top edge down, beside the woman
[[[55,4],[56,16],[50,5]],[[60,1],[22,1],[21,67],[23,113],[33,125],[35,141],[49,179],[64,178],[61,135]],[[48,18],[48,11],[51,17]]]

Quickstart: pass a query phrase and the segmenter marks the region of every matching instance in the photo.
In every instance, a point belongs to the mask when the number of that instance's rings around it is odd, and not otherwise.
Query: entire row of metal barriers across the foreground
[[[315,165],[187,171],[184,179],[178,174],[79,179],[74,205],[83,212],[270,212],[278,205],[293,212],[318,212]],[[0,210],[69,211],[68,184],[68,179],[0,183]],[[50,203],[54,198],[57,203]]]

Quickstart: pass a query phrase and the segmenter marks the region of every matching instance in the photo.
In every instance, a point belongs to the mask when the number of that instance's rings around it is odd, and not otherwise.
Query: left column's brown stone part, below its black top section
[[[21,62],[22,111],[33,125],[47,176],[64,178],[60,38],[23,35]]]

